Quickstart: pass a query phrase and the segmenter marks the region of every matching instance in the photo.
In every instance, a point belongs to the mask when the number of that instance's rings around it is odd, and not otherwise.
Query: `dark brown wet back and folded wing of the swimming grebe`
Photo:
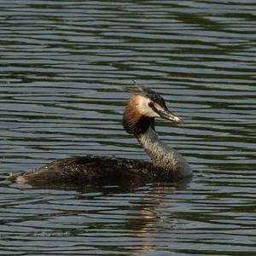
[[[55,160],[31,172],[9,177],[16,183],[138,183],[151,180],[154,166],[142,160],[87,155]]]

